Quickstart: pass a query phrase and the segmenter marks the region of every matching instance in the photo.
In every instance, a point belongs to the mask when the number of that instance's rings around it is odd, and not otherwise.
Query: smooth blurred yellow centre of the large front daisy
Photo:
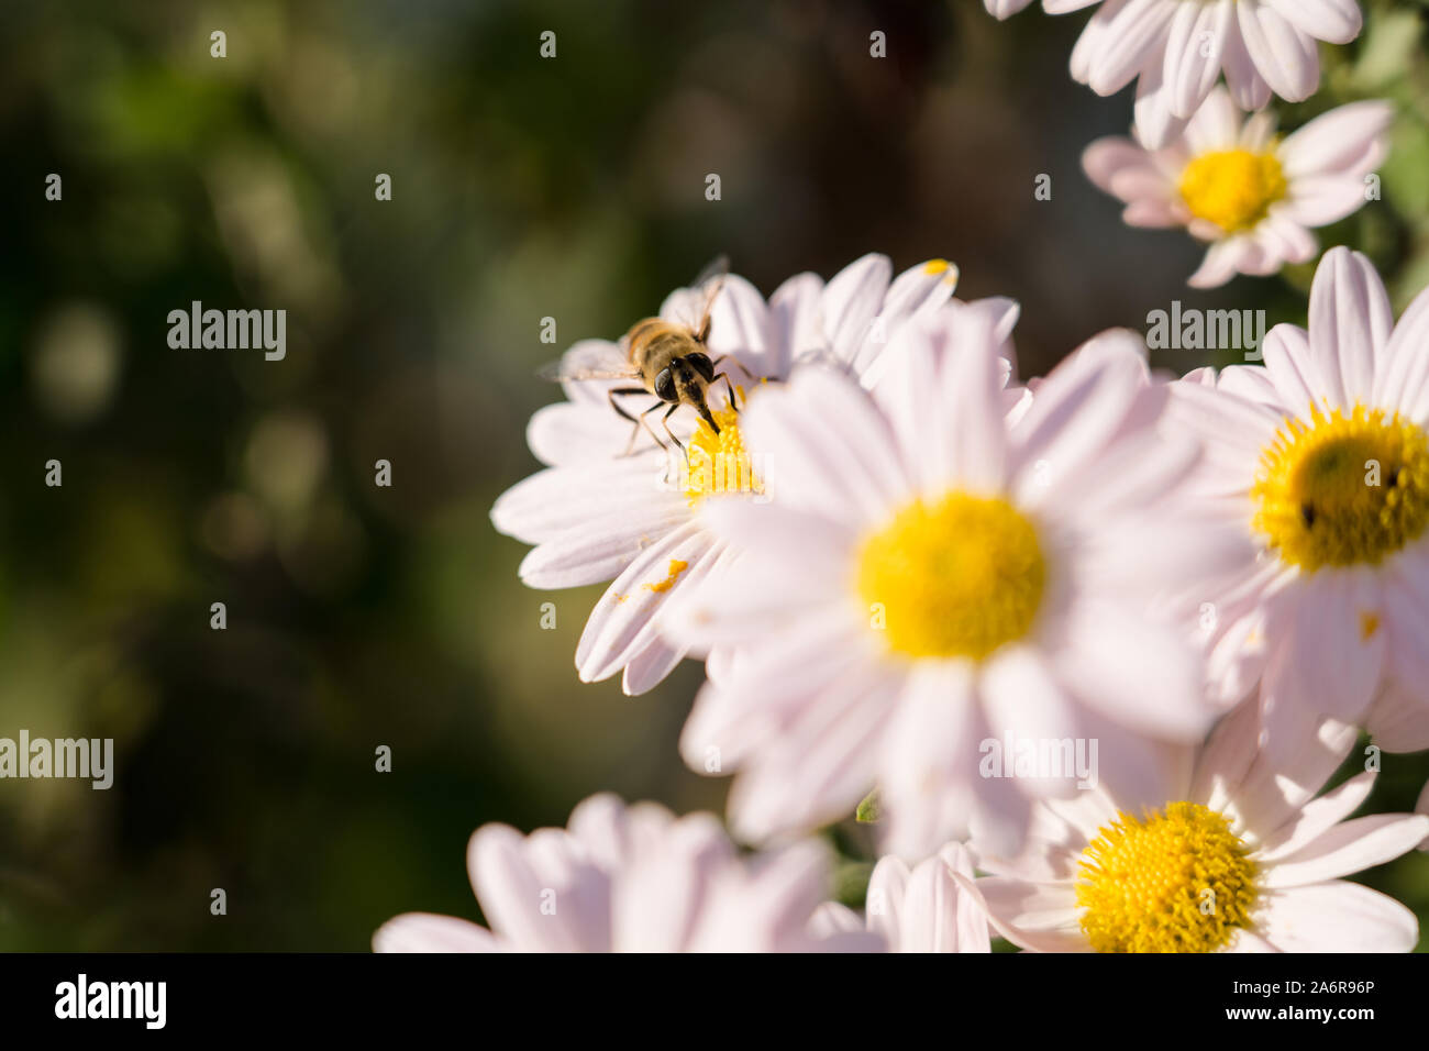
[[[870,625],[907,656],[980,661],[1030,631],[1045,583],[1032,522],[1006,500],[967,493],[909,505],[857,561]]]

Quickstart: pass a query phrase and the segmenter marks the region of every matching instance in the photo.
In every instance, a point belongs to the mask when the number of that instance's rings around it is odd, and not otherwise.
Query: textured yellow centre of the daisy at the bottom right
[[[1097,831],[1076,888],[1097,952],[1213,952],[1250,925],[1256,867],[1216,811],[1173,802]]]

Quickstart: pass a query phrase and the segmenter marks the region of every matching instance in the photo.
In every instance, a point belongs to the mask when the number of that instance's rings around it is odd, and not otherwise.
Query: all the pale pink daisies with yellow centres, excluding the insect
[[[1315,92],[1355,0],[1043,7],[1096,7],[1077,80],[1137,83],[1132,137],[1083,163],[1127,223],[1209,245],[1192,285],[1306,263],[1376,199],[1388,103],[1283,137],[1266,109]],[[1418,944],[1346,877],[1429,847],[1429,786],[1356,815],[1429,748],[1429,290],[1396,319],[1333,247],[1260,360],[1163,375],[1113,329],[1023,380],[1017,303],[957,276],[870,255],[765,299],[729,275],[567,350],[527,430],[543,468],[493,523],[532,588],[607,583],[580,679],[637,695],[703,662],[679,751],[732,778],[726,814],[596,795],[563,829],[486,825],[487,925],[407,914],[377,949]],[[620,408],[632,382],[669,440]],[[835,901],[820,832],[855,818],[879,857]]]

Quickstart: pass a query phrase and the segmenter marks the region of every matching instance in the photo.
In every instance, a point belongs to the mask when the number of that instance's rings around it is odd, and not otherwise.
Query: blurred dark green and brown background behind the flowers
[[[1429,283],[1425,7],[1368,7],[1285,113],[1400,104],[1385,200],[1323,233],[1402,306]],[[580,685],[600,589],[522,588],[524,549],[487,520],[536,466],[524,425],[556,392],[534,367],[716,253],[766,293],[869,250],[953,259],[960,295],[1022,300],[1025,375],[1172,299],[1303,320],[1310,267],[1195,293],[1199,249],[1125,227],[1085,180],[1130,97],[1070,82],[1083,21],[976,0],[0,6],[0,736],[117,742],[109,792],[0,782],[0,948],[360,951],[400,911],[479,917],[463,858],[486,821],[563,824],[597,789],[720,809],[725,782],[674,751],[699,668],[634,699]],[[170,349],[196,299],[286,309],[286,360]],[[1386,756],[1372,805],[1412,808],[1426,776]],[[1369,882],[1429,917],[1429,857]]]

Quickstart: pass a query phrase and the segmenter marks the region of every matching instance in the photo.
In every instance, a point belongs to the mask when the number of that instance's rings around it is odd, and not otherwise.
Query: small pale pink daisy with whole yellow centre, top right
[[[1127,224],[1185,226],[1209,242],[1189,280],[1206,289],[1312,259],[1310,227],[1365,204],[1365,179],[1385,159],[1392,120],[1389,103],[1358,102],[1278,139],[1270,114],[1246,119],[1218,87],[1163,149],[1110,136],[1086,147],[1082,166],[1126,204]]]

